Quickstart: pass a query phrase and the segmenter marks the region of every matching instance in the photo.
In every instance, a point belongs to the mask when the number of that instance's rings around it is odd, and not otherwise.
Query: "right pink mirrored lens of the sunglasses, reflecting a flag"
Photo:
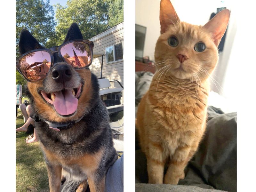
[[[60,49],[62,57],[66,62],[76,68],[83,68],[91,62],[91,49],[87,43],[75,41],[64,45]]]

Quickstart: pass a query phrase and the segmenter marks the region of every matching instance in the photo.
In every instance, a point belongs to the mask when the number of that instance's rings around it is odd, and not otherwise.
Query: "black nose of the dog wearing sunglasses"
[[[71,67],[68,65],[57,65],[52,69],[52,79],[64,83],[72,77]]]

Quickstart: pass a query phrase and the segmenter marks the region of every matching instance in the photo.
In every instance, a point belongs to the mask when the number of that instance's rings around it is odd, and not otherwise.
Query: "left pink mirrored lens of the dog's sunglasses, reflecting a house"
[[[51,56],[46,51],[29,53],[20,59],[21,72],[30,80],[46,76],[51,67]]]

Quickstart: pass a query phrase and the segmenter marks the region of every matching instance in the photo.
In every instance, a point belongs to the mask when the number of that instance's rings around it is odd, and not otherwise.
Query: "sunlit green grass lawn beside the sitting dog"
[[[123,111],[112,115],[111,122],[122,116]],[[23,116],[18,115],[16,128],[23,124]],[[16,192],[48,192],[48,175],[39,142],[27,144],[27,136],[25,132],[16,133]]]

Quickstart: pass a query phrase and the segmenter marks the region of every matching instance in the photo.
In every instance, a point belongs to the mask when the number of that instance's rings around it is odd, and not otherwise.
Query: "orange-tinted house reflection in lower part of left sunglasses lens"
[[[40,79],[41,76],[45,76],[51,66],[51,62],[44,60],[43,62],[34,62],[26,68],[26,74],[29,79]]]

